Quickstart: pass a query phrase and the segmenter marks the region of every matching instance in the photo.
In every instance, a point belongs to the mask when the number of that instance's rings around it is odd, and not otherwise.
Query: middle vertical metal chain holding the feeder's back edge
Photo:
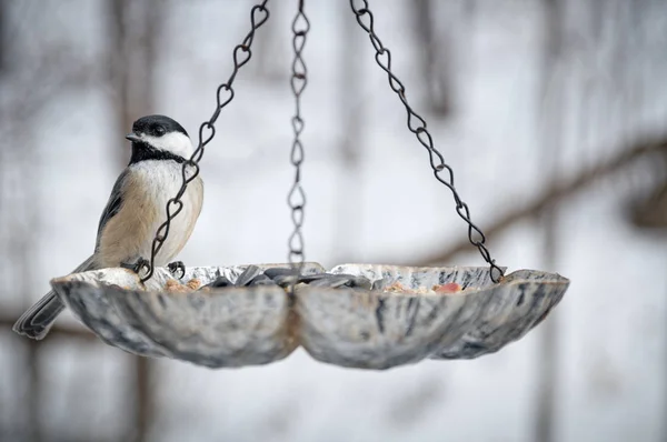
[[[295,225],[295,230],[288,240],[288,260],[292,269],[297,264],[299,265],[299,273],[301,272],[303,261],[306,259],[303,253],[303,234],[301,233],[301,227],[303,225],[303,208],[306,205],[306,193],[301,187],[303,144],[301,143],[300,135],[305,125],[303,119],[301,118],[301,93],[308,84],[308,70],[306,69],[306,62],[303,61],[301,53],[303,52],[303,47],[306,46],[306,36],[308,34],[309,30],[310,22],[303,12],[303,0],[299,0],[299,9],[292,21],[292,48],[295,50],[295,59],[291,66],[292,74],[290,79],[291,90],[296,102],[295,115],[291,119],[295,140],[292,142],[290,162],[295,167],[296,173],[295,183],[287,195],[287,203],[291,209],[291,218]]]

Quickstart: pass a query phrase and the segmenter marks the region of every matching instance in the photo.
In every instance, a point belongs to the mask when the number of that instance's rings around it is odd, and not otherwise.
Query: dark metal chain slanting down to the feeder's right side
[[[445,163],[445,158],[442,154],[435,148],[434,140],[431,134],[426,129],[426,121],[421,118],[417,112],[412,110],[410,104],[408,103],[408,99],[406,98],[406,88],[402,82],[396,77],[396,74],[391,71],[391,52],[388,48],[386,48],[380,41],[379,37],[375,32],[375,20],[372,12],[368,9],[368,1],[361,0],[364,6],[361,8],[355,7],[355,0],[350,0],[350,7],[357,17],[357,22],[359,26],[368,33],[370,38],[370,42],[376,50],[376,62],[385,72],[387,72],[387,77],[389,79],[389,87],[394,92],[398,94],[398,98],[406,107],[406,111],[408,113],[408,129],[410,132],[415,133],[417,140],[426,148],[430,159],[430,165],[434,170],[434,175],[438,181],[445,184],[451,191],[454,195],[454,201],[456,202],[456,211],[459,217],[468,223],[468,240],[470,243],[479,250],[481,258],[490,265],[490,275],[494,282],[499,282],[502,279],[504,271],[498,265],[496,265],[496,261],[491,259],[491,254],[485,245],[486,237],[481,232],[481,230],[472,223],[470,219],[470,210],[468,209],[468,204],[466,204],[458,194],[454,185],[454,171],[449,165]],[[364,17],[368,17],[368,23],[364,22]],[[442,172],[447,171],[447,177],[441,177]],[[475,238],[477,237],[477,238]]]

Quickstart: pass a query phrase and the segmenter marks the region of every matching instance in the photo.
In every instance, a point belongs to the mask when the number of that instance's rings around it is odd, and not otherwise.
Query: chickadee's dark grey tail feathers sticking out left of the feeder
[[[93,269],[93,257],[90,257],[72,273],[84,272]],[[13,325],[13,331],[34,340],[42,340],[53,325],[56,318],[62,312],[64,304],[56,292],[50,291],[37,303],[34,303],[26,313],[19,318]]]

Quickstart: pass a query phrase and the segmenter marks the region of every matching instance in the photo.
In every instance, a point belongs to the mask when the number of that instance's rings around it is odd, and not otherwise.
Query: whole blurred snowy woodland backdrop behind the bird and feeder
[[[273,3],[202,160],[205,208],[180,257],[187,265],[287,258],[293,178],[287,72],[297,2]],[[405,109],[348,1],[306,3],[307,259],[325,267],[425,263],[467,229],[405,127]],[[434,90],[422,69],[432,53],[414,11],[424,3],[431,8],[435,77],[445,90]],[[231,72],[252,2],[1,4],[0,440],[139,438],[135,358],[67,333],[31,344],[11,333],[11,321],[49,290],[49,279],[91,253],[99,214],[129,158],[119,107],[129,121],[170,115],[195,137]],[[159,24],[152,51],[142,52],[131,39],[145,27],[126,23],[127,63],[109,56],[117,54],[109,17],[118,6]],[[376,0],[370,7],[408,98],[482,230],[554,182],[644,139],[667,139],[664,1]],[[549,16],[554,10],[561,16]],[[122,80],[125,70],[131,77],[140,68],[150,74]],[[126,101],[119,81],[130,83]],[[447,101],[447,112],[438,100]],[[638,229],[627,214],[630,200],[667,180],[663,165],[647,155],[489,238],[492,255],[510,271],[540,269],[571,280],[548,320],[497,354],[386,372],[325,365],[302,350],[238,370],[152,361],[145,439],[666,441],[667,237],[665,229]],[[447,263],[484,261],[470,247]],[[68,312],[59,325],[83,330]]]

